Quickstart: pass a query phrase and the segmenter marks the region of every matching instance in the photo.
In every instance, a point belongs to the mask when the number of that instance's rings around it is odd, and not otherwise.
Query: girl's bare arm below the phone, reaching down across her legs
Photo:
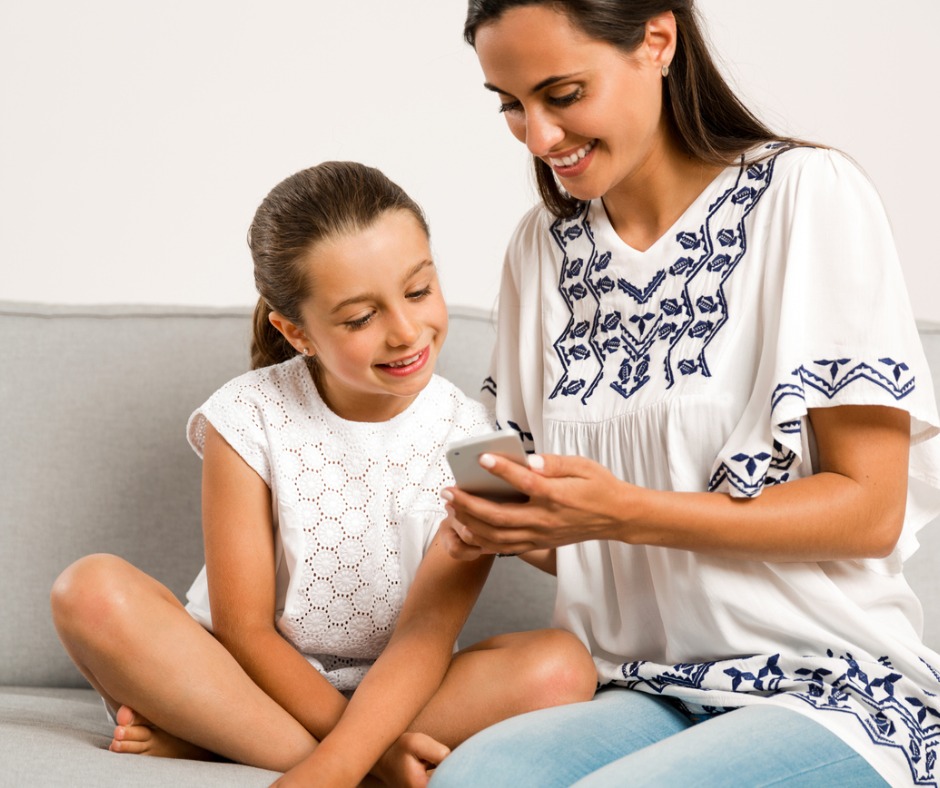
[[[437,691],[491,564],[489,556],[475,561],[451,558],[438,533],[421,562],[392,639],[342,719],[279,784],[359,784]],[[454,709],[454,714],[459,713]],[[423,777],[423,765],[416,765]],[[395,768],[402,771],[400,764]]]

